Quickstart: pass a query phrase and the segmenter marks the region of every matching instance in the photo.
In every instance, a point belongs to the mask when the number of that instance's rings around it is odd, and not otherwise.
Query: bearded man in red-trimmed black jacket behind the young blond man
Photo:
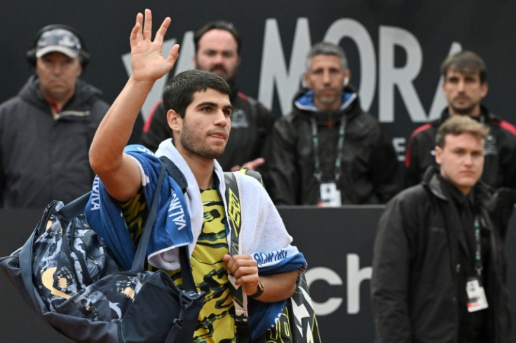
[[[435,165],[435,134],[451,116],[470,116],[489,127],[485,143],[482,180],[489,186],[516,187],[516,127],[501,120],[482,105],[487,95],[486,66],[475,52],[462,51],[447,57],[441,66],[442,91],[448,106],[441,118],[418,127],[410,135],[405,158],[405,186],[421,182],[426,169]]]

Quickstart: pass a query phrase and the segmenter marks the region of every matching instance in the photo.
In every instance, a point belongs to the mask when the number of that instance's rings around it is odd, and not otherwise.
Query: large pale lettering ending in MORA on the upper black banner
[[[194,33],[186,31],[181,43],[181,53],[177,60],[175,73],[194,68],[192,57],[195,54]],[[426,113],[414,80],[419,76],[423,66],[423,52],[416,36],[407,29],[399,27],[380,26],[378,34],[378,60],[371,34],[357,20],[341,18],[335,20],[328,27],[324,38],[317,41],[330,41],[340,43],[344,38],[349,38],[356,45],[360,59],[359,66],[351,66],[351,71],[360,68],[360,80],[353,82],[360,85],[360,103],[365,111],[371,111],[371,106],[378,88],[378,109],[372,110],[378,113],[381,123],[395,122],[395,94],[400,94],[402,104],[407,109],[409,118],[414,123],[423,123],[438,118],[440,111],[447,102],[442,94],[442,79],[437,79],[439,73],[435,68],[437,87],[433,102],[428,114]],[[176,43],[176,38],[163,42],[163,55],[167,55]],[[283,49],[284,42],[281,41],[278,22],[274,18],[265,22],[264,40],[262,49],[262,61],[260,65],[260,79],[258,96],[260,102],[270,109],[273,106],[274,92],[278,94],[280,111],[284,115],[292,109],[292,97],[299,90],[301,77],[305,70],[305,56],[312,45],[308,18],[297,18],[294,29],[294,40],[290,53],[290,63],[286,63]],[[314,42],[315,43],[315,42]],[[287,43],[285,43],[285,46]],[[401,48],[406,55],[404,66],[395,66],[395,48]],[[461,44],[452,42],[449,53],[460,51]],[[444,59],[444,56],[443,56]],[[130,53],[122,56],[122,61],[128,76],[132,74],[130,66]],[[377,61],[377,62],[376,62]],[[379,84],[376,87],[376,71],[379,73]],[[168,75],[156,81],[152,87],[146,102],[142,106],[142,116],[147,119],[151,109],[161,98],[163,87],[168,80]]]

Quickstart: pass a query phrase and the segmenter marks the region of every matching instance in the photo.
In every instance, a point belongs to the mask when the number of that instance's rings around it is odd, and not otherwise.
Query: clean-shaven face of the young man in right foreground
[[[466,195],[482,176],[484,139],[465,133],[444,137],[444,148],[435,147],[435,161],[441,175]]]

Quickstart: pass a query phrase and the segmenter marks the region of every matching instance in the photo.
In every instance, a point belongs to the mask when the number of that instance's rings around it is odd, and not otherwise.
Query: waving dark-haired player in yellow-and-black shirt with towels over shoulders
[[[121,247],[116,250],[123,252],[120,260],[130,267],[150,202],[160,192],[147,260],[149,266],[170,272],[180,285],[178,250],[188,246],[196,288],[206,293],[191,342],[235,342],[231,284],[242,286],[247,295],[252,341],[271,342],[269,337],[280,333],[273,332],[276,322],[283,328],[279,315],[306,260],[290,244],[292,237],[266,190],[242,173],[234,173],[240,190],[241,244],[239,254],[229,255],[231,232],[226,222],[233,217],[224,197],[224,172],[215,160],[224,153],[233,112],[231,88],[224,78],[209,71],[179,73],[163,92],[173,141],[165,139],[156,154],[143,146],[126,147],[152,86],[179,56],[177,44],[168,57],[162,55],[169,25],[170,18],[165,18],[153,41],[151,11],[137,14],[130,34],[133,75],[107,111],[90,148],[97,177],[86,206],[88,223],[111,251],[114,245]],[[156,189],[163,165],[170,168],[163,186]],[[254,259],[262,253],[276,257]]]

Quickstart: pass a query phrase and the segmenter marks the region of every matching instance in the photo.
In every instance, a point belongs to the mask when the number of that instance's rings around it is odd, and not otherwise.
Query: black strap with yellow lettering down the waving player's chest
[[[237,255],[239,250],[238,238],[240,237],[240,228],[242,226],[238,181],[236,181],[236,175],[231,172],[224,172],[224,181],[226,183],[226,204],[228,207],[227,223],[231,232],[229,254]],[[233,297],[233,304],[235,306],[236,343],[251,342],[251,327],[247,314],[247,295],[242,292],[242,289],[242,287],[236,288],[233,286],[233,283],[229,282],[229,290],[231,291],[231,297]]]

